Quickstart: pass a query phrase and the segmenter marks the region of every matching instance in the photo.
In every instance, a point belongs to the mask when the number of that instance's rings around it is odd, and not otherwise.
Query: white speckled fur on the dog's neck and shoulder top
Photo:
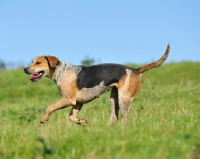
[[[58,85],[62,81],[63,76],[66,74],[66,72],[72,72],[78,75],[78,73],[81,71],[81,68],[81,66],[74,66],[69,63],[59,61],[55,68],[52,79]]]

